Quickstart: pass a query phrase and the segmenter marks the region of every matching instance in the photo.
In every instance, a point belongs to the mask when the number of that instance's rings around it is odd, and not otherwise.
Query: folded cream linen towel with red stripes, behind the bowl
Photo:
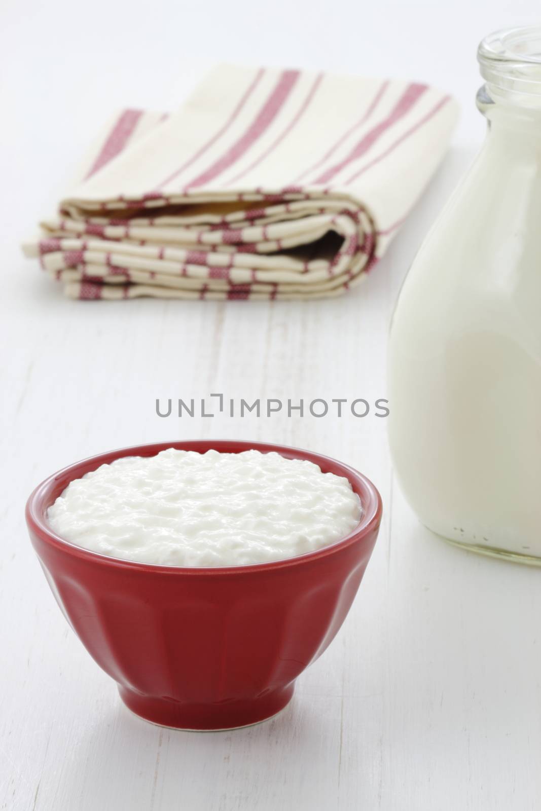
[[[125,110],[24,245],[71,298],[321,298],[357,285],[435,171],[457,105],[424,84],[221,66]]]

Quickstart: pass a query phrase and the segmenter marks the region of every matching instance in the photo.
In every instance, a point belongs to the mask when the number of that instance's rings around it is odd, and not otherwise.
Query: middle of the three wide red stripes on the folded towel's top
[[[185,190],[203,186],[204,183],[217,178],[225,169],[229,169],[230,166],[236,163],[238,158],[242,157],[252,144],[255,144],[255,141],[263,135],[280,112],[282,105],[298,79],[298,75],[298,71],[284,71],[281,74],[276,87],[251,122],[250,127],[247,128],[247,131],[212,166],[209,166],[206,171],[189,182]]]

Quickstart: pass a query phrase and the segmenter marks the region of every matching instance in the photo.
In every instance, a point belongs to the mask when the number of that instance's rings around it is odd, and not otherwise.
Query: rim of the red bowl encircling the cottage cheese
[[[75,543],[63,539],[51,529],[47,522],[45,512],[50,504],[54,503],[54,500],[58,498],[60,493],[75,478],[81,478],[84,473],[97,470],[101,465],[108,464],[122,457],[153,457],[162,450],[167,450],[167,448],[195,451],[195,453],[205,453],[208,450],[217,450],[221,453],[242,453],[247,450],[257,450],[260,451],[260,453],[274,452],[280,453],[281,456],[290,459],[312,461],[315,462],[316,465],[319,465],[322,470],[328,468],[328,466],[337,467],[340,472],[336,475],[343,475],[347,478],[354,491],[361,499],[363,515],[361,516],[358,526],[356,526],[350,534],[346,535],[345,538],[341,538],[334,543],[329,543],[328,546],[321,547],[315,551],[304,552],[303,555],[283,558],[282,560],[266,560],[255,564],[234,564],[229,566],[171,566],[117,558],[103,555],[101,552],[91,551],[84,547],[79,547]],[[321,463],[323,463],[323,467]],[[328,472],[328,470],[324,470],[324,472]],[[129,569],[139,573],[163,573],[170,576],[182,574],[190,575],[191,577],[220,577],[221,575],[227,574],[242,575],[243,573],[284,569],[333,555],[333,553],[345,547],[349,547],[352,543],[359,540],[366,539],[371,535],[372,530],[377,528],[380,524],[382,511],[383,505],[380,493],[369,478],[359,473],[359,471],[355,470],[353,467],[333,457],[325,456],[322,453],[303,450],[303,448],[293,448],[289,445],[251,442],[249,440],[173,440],[171,442],[128,445],[125,448],[117,448],[113,451],[106,451],[92,457],[86,457],[85,459],[76,461],[58,470],[56,473],[45,478],[32,491],[26,504],[25,517],[28,529],[36,534],[42,542],[80,560],[103,564],[108,568]]]

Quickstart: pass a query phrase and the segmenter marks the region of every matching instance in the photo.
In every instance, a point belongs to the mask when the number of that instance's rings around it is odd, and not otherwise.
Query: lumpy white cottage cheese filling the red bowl
[[[350,483],[278,453],[169,448],[72,481],[49,507],[77,546],[170,566],[231,566],[303,555],[350,534],[362,509]]]

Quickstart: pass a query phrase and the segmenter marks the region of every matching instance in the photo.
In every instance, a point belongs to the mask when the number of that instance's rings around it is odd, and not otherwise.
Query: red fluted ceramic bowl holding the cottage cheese
[[[307,459],[345,476],[363,504],[347,538],[250,566],[158,566],[68,543],[47,522],[74,478],[120,457],[165,448]],[[142,718],[182,729],[229,729],[276,714],[294,681],[332,642],[359,588],[380,527],[381,499],[363,475],[319,453],[257,442],[165,442],[101,453],[49,476],[28,499],[32,544],[81,642]]]

